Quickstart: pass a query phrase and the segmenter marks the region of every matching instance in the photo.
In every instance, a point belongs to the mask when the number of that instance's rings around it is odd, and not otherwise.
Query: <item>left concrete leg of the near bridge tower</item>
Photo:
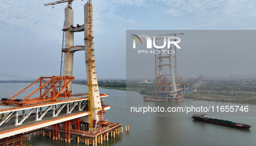
[[[73,24],[73,10],[65,8],[65,26],[69,28]],[[65,48],[69,49],[74,46],[74,32],[66,30],[65,32]],[[74,52],[65,52],[63,76],[72,76],[73,74]],[[71,91],[71,83],[68,84],[68,90]]]

